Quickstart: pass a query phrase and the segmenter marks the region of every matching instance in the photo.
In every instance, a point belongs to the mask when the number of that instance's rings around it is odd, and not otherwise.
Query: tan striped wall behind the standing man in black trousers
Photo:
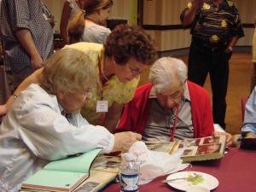
[[[144,25],[179,25],[179,15],[189,0],[143,0]],[[235,0],[243,23],[253,23],[256,15],[255,0]],[[170,50],[189,47],[190,34],[188,30],[148,31],[156,40],[158,49]],[[237,45],[250,46],[253,38],[253,28],[244,28],[245,37]]]

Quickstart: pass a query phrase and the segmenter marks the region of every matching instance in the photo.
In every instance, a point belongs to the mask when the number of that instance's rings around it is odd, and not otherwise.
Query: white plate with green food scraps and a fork
[[[199,177],[195,178],[196,175]],[[218,179],[205,172],[175,172],[166,177],[166,181],[173,188],[183,191],[191,186],[202,186],[210,190],[218,186]]]

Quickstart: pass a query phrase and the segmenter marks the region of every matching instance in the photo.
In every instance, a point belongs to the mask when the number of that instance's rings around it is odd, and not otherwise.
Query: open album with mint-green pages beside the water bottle
[[[96,192],[119,173],[120,157],[100,154],[101,148],[50,162],[22,183],[22,192]]]

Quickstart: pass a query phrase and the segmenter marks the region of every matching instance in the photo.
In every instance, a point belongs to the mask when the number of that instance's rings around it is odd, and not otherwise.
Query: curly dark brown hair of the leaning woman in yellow
[[[145,65],[151,65],[158,55],[150,36],[141,27],[116,26],[107,38],[105,55],[125,65],[131,57]]]

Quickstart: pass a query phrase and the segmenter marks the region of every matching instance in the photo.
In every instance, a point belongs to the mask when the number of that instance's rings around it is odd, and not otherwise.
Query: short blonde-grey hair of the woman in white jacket
[[[90,58],[77,49],[61,49],[44,61],[40,86],[49,94],[84,91],[96,86],[96,72]]]

